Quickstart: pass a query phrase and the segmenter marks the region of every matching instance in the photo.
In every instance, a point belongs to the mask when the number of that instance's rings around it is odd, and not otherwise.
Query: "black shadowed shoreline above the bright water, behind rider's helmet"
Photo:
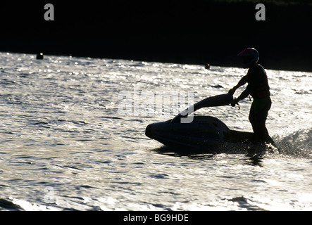
[[[56,2],[55,20],[45,21],[44,4],[25,3],[14,16],[2,9],[0,51],[240,67],[237,53],[253,46],[265,68],[312,72],[311,4],[265,4],[266,21],[255,19],[255,6],[204,0]]]

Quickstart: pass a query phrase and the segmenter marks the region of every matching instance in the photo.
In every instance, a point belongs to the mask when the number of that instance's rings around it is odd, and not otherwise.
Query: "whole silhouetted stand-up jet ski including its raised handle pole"
[[[230,94],[205,98],[179,113],[173,120],[149,124],[145,134],[175,150],[192,149],[200,153],[242,153],[246,150],[266,150],[268,145],[254,143],[254,134],[251,132],[229,129],[216,117],[192,115],[200,108],[230,105],[232,99]],[[274,143],[271,144],[275,146]]]

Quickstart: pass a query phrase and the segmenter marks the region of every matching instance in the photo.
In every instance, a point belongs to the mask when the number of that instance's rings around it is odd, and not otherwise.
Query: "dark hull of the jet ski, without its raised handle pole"
[[[252,144],[253,133],[231,130],[216,117],[209,116],[195,116],[191,123],[156,122],[146,127],[145,134],[168,147],[208,153],[261,147]]]

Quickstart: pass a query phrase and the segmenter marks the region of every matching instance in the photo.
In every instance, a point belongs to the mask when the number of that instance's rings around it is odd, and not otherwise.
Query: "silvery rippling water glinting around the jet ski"
[[[144,135],[183,107],[170,98],[168,110],[153,108],[157,94],[194,91],[196,102],[225,94],[247,70],[0,58],[0,210],[312,210],[311,73],[267,70],[267,127],[280,154],[176,155]],[[251,131],[250,102],[240,105],[196,114]]]

